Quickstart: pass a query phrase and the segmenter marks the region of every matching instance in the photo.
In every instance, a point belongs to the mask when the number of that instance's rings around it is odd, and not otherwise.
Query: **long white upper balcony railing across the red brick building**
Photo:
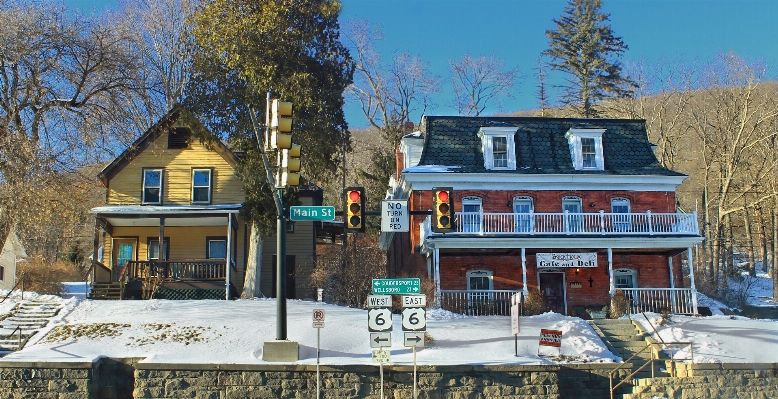
[[[429,219],[429,218],[428,218]],[[697,213],[481,213],[455,215],[448,234],[699,235]],[[424,236],[429,220],[424,223]]]

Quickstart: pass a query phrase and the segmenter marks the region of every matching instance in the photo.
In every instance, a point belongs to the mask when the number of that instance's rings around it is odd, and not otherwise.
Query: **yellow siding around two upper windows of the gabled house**
[[[163,168],[164,205],[188,205],[192,192],[192,169],[212,168],[212,204],[243,203],[243,183],[235,169],[219,153],[193,140],[186,149],[168,149],[163,133],[114,176],[108,186],[108,205],[140,205],[143,168]]]

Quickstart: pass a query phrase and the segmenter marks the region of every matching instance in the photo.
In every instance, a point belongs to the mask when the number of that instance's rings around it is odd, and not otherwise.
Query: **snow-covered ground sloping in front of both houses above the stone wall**
[[[76,293],[70,295],[73,294]],[[36,296],[25,293],[25,299]],[[701,298],[701,302],[708,300]],[[18,298],[12,296],[1,304],[0,314],[10,310],[15,301]],[[276,338],[274,299],[92,301],[76,294],[62,301],[64,310],[53,322],[36,334],[24,350],[3,358],[4,361],[85,361],[109,356],[145,357],[153,362],[254,364],[263,363],[263,343]],[[312,313],[314,309],[324,309],[321,363],[372,364],[366,310],[300,300],[287,301],[287,309],[288,338],[300,344],[299,363],[316,362],[317,331],[312,327]],[[672,316],[660,323],[660,315],[648,316],[665,341],[693,341],[695,362],[778,362],[775,320]],[[633,319],[652,331],[642,315]],[[541,328],[563,331],[562,358],[537,355]],[[584,320],[555,313],[521,318],[518,357],[514,356],[509,317],[472,317],[433,309],[427,314],[427,331],[432,342],[419,349],[418,364],[620,360],[605,348]],[[393,364],[413,362],[412,350],[404,347],[402,340],[401,316],[394,315]],[[552,348],[542,350],[553,353]],[[677,357],[687,356],[682,351]]]

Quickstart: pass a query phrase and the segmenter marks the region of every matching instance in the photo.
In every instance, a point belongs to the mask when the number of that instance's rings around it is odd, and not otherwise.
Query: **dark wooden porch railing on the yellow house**
[[[160,278],[164,280],[224,280],[224,260],[129,261],[123,274],[128,280]]]

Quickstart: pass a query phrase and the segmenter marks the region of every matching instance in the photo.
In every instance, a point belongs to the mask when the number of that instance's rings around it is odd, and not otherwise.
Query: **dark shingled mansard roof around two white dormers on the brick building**
[[[482,127],[515,127],[516,170],[487,170]],[[605,170],[575,170],[565,133],[571,128],[605,129]],[[646,121],[538,117],[426,116],[419,166],[455,166],[453,173],[611,174],[685,176],[662,166],[651,150]]]

